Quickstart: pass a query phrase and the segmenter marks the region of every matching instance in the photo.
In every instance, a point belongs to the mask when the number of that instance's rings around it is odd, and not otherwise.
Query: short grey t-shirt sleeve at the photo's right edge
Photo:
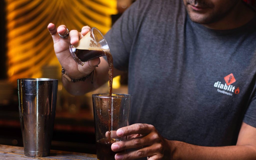
[[[252,98],[251,103],[244,115],[243,122],[250,126],[256,127],[256,95]]]

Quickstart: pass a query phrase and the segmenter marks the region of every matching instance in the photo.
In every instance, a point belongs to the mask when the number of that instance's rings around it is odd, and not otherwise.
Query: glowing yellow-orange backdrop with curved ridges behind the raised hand
[[[117,13],[117,0],[6,0],[9,81],[61,77],[49,23],[70,30],[88,25],[105,34]]]

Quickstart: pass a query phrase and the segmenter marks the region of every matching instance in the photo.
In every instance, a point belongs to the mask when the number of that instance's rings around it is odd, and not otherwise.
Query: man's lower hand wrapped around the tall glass
[[[168,140],[163,138],[153,125],[133,124],[118,129],[116,135],[119,137],[129,136],[129,140],[113,143],[112,151],[135,149],[131,152],[116,154],[116,160],[142,157],[148,157],[148,160],[171,159]]]

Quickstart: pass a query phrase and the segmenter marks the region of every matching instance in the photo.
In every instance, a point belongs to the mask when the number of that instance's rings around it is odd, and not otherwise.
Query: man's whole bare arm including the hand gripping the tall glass
[[[242,123],[236,146],[205,147],[179,141],[169,141],[148,124],[133,124],[116,131],[117,136],[134,135],[133,138],[113,143],[113,151],[129,148],[136,150],[118,153],[116,160],[149,157],[156,159],[186,159],[186,160],[255,160],[256,159],[256,128]],[[138,136],[140,134],[140,136]],[[203,141],[203,140],[202,140]]]

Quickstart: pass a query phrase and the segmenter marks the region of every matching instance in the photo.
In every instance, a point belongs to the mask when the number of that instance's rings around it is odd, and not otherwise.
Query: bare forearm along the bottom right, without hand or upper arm
[[[256,147],[244,146],[223,146],[223,147],[204,147],[196,146],[179,141],[169,141],[174,160],[255,160]]]

